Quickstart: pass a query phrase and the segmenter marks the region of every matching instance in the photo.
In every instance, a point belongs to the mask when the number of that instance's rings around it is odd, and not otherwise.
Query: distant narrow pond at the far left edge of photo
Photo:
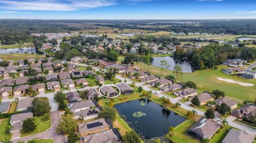
[[[34,47],[22,47],[22,48],[8,48],[8,49],[0,49],[1,54],[10,54],[10,53],[36,53],[36,49]]]

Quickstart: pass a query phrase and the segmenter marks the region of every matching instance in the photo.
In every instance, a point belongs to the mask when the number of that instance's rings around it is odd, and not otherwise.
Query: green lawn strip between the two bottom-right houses
[[[219,133],[215,133],[210,140],[210,143],[221,143],[221,141],[227,136],[230,126],[224,125],[223,129],[218,129]]]

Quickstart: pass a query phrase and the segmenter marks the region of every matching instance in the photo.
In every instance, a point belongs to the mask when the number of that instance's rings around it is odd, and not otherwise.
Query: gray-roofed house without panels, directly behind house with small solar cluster
[[[94,107],[95,104],[92,102],[92,100],[86,100],[81,102],[74,102],[68,104],[68,108],[70,108],[70,111],[75,113],[83,110],[89,110],[91,107]]]

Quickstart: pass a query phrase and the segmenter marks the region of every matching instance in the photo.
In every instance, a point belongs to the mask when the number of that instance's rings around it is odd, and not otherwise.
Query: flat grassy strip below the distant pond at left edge
[[[28,59],[28,58],[41,58],[45,57],[44,55],[37,54],[0,54],[0,58],[3,60],[20,60],[20,59]]]

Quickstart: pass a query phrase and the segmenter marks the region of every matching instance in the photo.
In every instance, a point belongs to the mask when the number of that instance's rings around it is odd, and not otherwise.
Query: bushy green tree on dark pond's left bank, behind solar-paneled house
[[[103,107],[103,110],[99,113],[99,117],[108,118],[111,121],[116,119],[116,109],[111,106]]]

